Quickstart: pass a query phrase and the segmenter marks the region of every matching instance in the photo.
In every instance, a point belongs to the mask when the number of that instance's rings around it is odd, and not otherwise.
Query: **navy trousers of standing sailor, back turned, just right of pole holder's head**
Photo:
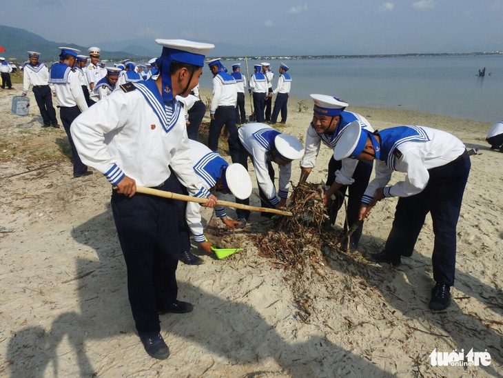
[[[237,163],[239,159],[239,145],[238,145],[238,129],[236,128],[236,109],[234,106],[218,106],[216,108],[215,119],[209,123],[208,147],[212,151],[218,150],[218,138],[225,125],[229,138],[227,144],[229,145],[229,155],[233,163]]]

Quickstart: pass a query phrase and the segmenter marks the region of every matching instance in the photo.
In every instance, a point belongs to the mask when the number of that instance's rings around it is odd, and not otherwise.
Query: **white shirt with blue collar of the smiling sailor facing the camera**
[[[358,120],[360,126],[365,130],[373,132],[372,126],[370,126],[369,121],[367,121],[365,117],[359,115],[358,113],[344,111],[341,113],[341,118],[339,120],[340,125],[338,124],[337,126],[338,135],[340,135],[342,130],[344,130],[345,127],[354,120]],[[314,168],[314,166],[316,165],[316,157],[318,157],[318,153],[320,152],[321,142],[323,142],[325,146],[328,146],[329,148],[331,148],[331,150],[333,150],[333,148],[336,147],[337,141],[339,139],[338,135],[333,135],[332,139],[328,139],[328,135],[318,135],[318,132],[316,132],[313,126],[309,125],[306,133],[304,156],[300,161],[300,167]],[[357,165],[358,160],[356,159],[342,159],[342,167],[340,168],[340,170],[336,170],[336,182],[341,183],[342,185],[351,185],[351,183],[354,182],[354,179],[352,177]]]

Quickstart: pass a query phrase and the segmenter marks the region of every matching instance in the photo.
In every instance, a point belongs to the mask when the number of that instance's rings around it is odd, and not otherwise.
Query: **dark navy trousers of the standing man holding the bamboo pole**
[[[174,176],[172,173],[171,176]],[[172,192],[170,179],[158,189]],[[176,301],[180,253],[174,199],[112,192],[112,212],[127,268],[127,295],[138,330],[158,333],[158,310]]]

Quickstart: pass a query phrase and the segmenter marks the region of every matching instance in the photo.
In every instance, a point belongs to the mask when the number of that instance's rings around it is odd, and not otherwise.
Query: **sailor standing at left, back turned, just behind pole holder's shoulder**
[[[88,110],[88,103],[85,102],[79,74],[76,72],[76,68],[73,68],[77,54],[81,51],[66,47],[60,47],[59,49],[61,50],[59,57],[62,61],[52,65],[48,82],[54,85],[58,99],[59,117],[72,148],[73,177],[88,176],[92,175],[92,171],[88,170],[88,166],[79,157],[70,130],[74,119],[81,112]]]

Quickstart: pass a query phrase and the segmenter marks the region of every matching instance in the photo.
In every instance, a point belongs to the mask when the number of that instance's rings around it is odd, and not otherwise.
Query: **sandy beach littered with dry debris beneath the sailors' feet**
[[[63,128],[41,128],[32,92],[30,115],[12,115],[12,96],[21,94],[22,85],[14,88],[0,89],[0,377],[503,375],[503,154],[485,141],[493,123],[351,103],[347,108],[375,129],[430,126],[479,149],[471,158],[453,302],[445,311],[428,308],[434,284],[429,217],[413,256],[401,266],[365,259],[382,249],[396,199],[373,210],[357,252],[325,251],[316,270],[301,278],[258,254],[253,240],[269,221],[254,213],[247,228],[234,232],[236,247],[244,250],[219,260],[194,245],[205,263],[179,263],[178,299],[192,302],[194,312],[161,317],[171,355],[159,361],[145,353],[135,333],[110,184],[96,171],[74,179]],[[206,99],[211,90],[201,94]],[[291,97],[287,124],[278,130],[303,142],[311,117],[311,101]],[[309,182],[325,180],[331,153],[322,147]],[[298,162],[292,171],[296,184]],[[256,189],[252,169],[250,175]],[[207,221],[211,213],[205,209]],[[235,217],[232,209],[228,214]],[[307,321],[296,300],[300,281],[310,303]],[[491,364],[432,366],[433,350],[488,352]]]

